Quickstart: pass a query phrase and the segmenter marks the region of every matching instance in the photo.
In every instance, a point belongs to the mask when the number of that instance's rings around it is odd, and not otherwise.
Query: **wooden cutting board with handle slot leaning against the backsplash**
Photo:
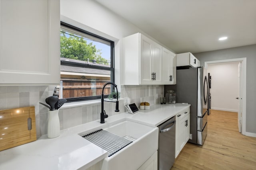
[[[35,107],[0,110],[0,151],[36,141]]]

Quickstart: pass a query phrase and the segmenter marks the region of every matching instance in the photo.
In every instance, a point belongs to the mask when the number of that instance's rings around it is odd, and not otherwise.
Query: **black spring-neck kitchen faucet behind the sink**
[[[104,88],[106,85],[108,84],[112,84],[115,88],[116,88],[116,94],[118,94],[118,91],[117,91],[117,85],[114,84],[113,82],[106,82],[104,85],[103,85],[103,88],[102,88],[102,94],[101,94],[101,113],[100,113],[100,123],[105,123],[105,118],[108,118],[108,115],[106,114],[106,111],[104,110]],[[110,101],[106,101],[106,102],[110,102]],[[116,109],[115,111],[118,112],[119,111],[119,108],[118,108],[118,95],[117,95],[117,100],[116,100]]]

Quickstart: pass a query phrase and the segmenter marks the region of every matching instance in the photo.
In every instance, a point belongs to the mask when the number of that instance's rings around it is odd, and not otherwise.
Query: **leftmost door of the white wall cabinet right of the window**
[[[140,34],[140,84],[152,82],[152,40]]]

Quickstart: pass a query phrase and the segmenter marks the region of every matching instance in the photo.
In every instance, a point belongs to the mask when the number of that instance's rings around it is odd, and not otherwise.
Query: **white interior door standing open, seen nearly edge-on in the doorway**
[[[238,131],[242,130],[242,63],[238,63]]]

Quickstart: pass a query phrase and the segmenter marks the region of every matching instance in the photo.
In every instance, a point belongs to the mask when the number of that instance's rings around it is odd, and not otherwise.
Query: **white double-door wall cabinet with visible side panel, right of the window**
[[[141,33],[123,39],[124,85],[162,83],[162,46]]]

